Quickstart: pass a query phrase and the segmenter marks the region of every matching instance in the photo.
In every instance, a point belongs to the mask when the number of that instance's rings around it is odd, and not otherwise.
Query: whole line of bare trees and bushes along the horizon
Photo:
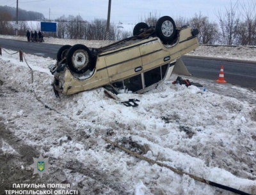
[[[196,13],[191,18],[178,17],[175,19],[177,27],[190,25],[199,30],[198,41],[202,44],[222,45],[256,45],[256,3],[253,0],[225,6],[222,10],[215,10],[218,18],[211,22],[209,17]],[[14,34],[12,27],[8,24],[8,14],[0,13],[0,34]],[[152,26],[156,24],[156,13],[150,13],[147,17],[141,18],[139,22],[146,22]],[[95,18],[91,22],[84,20],[80,15],[76,17],[64,15],[56,18],[57,32],[45,33],[45,36],[67,39],[84,40],[106,40],[107,20]],[[28,25],[22,23],[21,34],[26,33]],[[31,28],[30,28],[31,29]],[[37,27],[36,30],[40,29]],[[31,29],[32,30],[32,29]],[[110,40],[121,40],[131,36],[131,32],[121,31],[115,24],[110,25]]]

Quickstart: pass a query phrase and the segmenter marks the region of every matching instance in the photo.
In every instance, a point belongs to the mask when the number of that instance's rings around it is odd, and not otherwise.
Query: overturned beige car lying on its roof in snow
[[[116,94],[146,92],[170,78],[180,56],[198,47],[197,34],[198,29],[191,27],[177,29],[173,19],[165,16],[156,27],[136,24],[132,37],[106,47],[64,45],[57,63],[49,67],[54,92],[69,95],[97,87]]]

